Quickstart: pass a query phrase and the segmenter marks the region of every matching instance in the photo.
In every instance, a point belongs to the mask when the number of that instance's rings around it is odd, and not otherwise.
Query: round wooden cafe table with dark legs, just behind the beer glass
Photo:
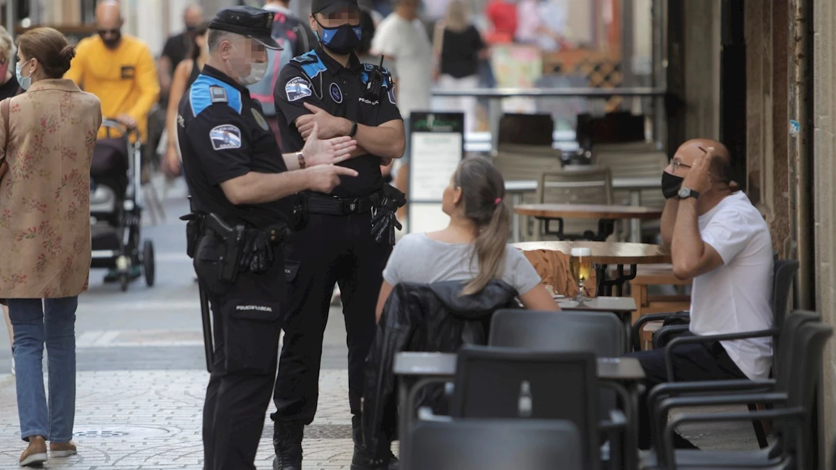
[[[664,248],[646,243],[523,242],[514,243],[513,246],[523,251],[558,251],[567,255],[572,254],[572,248],[589,248],[598,278],[598,288],[595,292],[604,297],[612,295],[613,287],[616,296],[621,297],[624,294],[624,283],[635,278],[636,265],[670,263],[670,254]],[[617,267],[616,277],[613,279],[607,278],[609,264]],[[624,273],[625,265],[630,266],[628,273]]]

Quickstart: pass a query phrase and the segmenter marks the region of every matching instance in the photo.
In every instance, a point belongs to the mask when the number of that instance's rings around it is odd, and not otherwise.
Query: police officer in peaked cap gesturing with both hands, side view
[[[261,79],[273,14],[227,8],[209,23],[210,59],[177,116],[192,213],[186,232],[201,293],[212,305],[214,359],[203,411],[206,470],[254,469],[273,391],[286,310],[281,245],[300,191],[328,193],[354,170],[349,137],[282,155],[245,86]],[[298,150],[298,149],[297,149]],[[201,294],[201,299],[204,295]]]

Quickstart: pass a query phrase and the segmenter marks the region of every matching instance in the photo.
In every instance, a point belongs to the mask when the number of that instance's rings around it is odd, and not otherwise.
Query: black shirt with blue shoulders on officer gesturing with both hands
[[[250,171],[288,171],[261,105],[247,89],[209,65],[180,102],[177,137],[183,172],[199,212],[268,227],[288,220],[287,200],[236,206],[221,183]]]

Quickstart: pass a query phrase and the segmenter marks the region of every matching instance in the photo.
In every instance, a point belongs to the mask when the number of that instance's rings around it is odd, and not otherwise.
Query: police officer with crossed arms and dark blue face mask
[[[333,195],[302,195],[304,227],[288,241],[290,307],[273,397],[274,468],[299,470],[303,427],[314,420],[325,324],[334,284],[339,284],[349,346],[352,470],[385,468],[394,456],[371,456],[361,435],[364,361],[375,335],[375,306],[386,260],[395,243],[395,210],[404,195],[385,185],[380,165],[404,154],[403,120],[390,74],[361,64],[356,0],[313,0],[310,27],[319,45],[284,67],[273,90],[282,145],[297,150],[314,125],[321,138],[357,140],[353,160],[341,165],[359,173],[342,178]],[[376,458],[380,457],[380,458]]]

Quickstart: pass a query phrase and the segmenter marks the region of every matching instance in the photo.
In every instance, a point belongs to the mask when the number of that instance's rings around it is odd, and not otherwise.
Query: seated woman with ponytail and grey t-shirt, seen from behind
[[[468,282],[461,294],[470,295],[492,279],[501,279],[517,289],[526,309],[558,310],[525,255],[507,244],[511,210],[502,202],[504,197],[505,181],[490,161],[461,161],[441,205],[450,225],[440,232],[406,235],[395,245],[383,271],[378,318],[392,287],[401,282],[463,280]]]

